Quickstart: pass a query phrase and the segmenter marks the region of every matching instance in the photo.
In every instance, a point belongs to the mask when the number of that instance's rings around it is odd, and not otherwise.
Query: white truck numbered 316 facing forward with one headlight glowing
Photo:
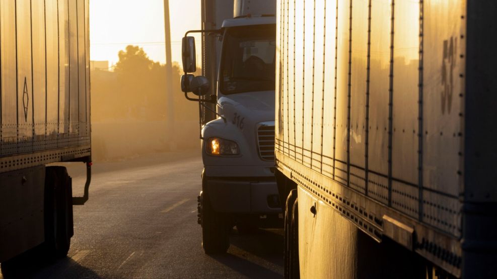
[[[213,6],[222,8],[222,3]],[[198,222],[206,253],[226,252],[234,225],[243,231],[282,223],[274,177],[275,2],[235,1],[232,7],[234,17],[220,29],[189,31],[183,38],[185,97],[207,112],[216,104],[212,113],[219,116],[201,123]],[[203,53],[204,65],[206,59],[219,63],[217,80],[188,74],[196,70],[194,39],[188,37],[193,32],[222,41],[219,61]],[[210,93],[209,83],[217,83],[217,90],[201,98]],[[188,97],[189,92],[199,98]]]

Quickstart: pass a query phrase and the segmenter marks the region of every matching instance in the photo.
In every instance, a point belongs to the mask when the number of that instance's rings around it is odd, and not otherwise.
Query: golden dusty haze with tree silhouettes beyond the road
[[[119,61],[113,67],[106,61],[92,61],[93,160],[198,150],[198,104],[184,98],[181,68],[177,62],[172,65],[172,76],[167,76],[164,64],[133,45],[119,51]]]

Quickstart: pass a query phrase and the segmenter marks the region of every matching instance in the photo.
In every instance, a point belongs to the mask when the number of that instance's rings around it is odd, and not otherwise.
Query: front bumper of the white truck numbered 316
[[[216,212],[224,213],[281,213],[276,180],[267,177],[209,177],[204,180],[204,190]]]

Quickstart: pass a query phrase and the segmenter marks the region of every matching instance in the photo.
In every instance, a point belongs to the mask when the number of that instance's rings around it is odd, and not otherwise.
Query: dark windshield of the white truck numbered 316
[[[275,25],[232,27],[223,40],[223,94],[274,90]]]

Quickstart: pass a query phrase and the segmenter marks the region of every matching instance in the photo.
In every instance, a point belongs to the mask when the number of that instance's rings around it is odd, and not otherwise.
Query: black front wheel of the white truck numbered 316
[[[200,193],[202,247],[206,254],[226,253],[230,247],[229,228],[226,217],[215,212],[205,193]]]

